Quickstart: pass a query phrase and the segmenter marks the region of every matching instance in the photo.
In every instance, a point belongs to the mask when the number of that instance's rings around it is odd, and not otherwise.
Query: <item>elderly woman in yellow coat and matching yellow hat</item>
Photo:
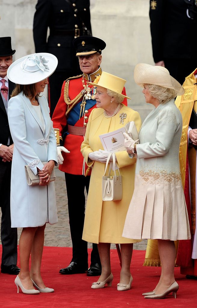
[[[90,84],[95,85],[95,83],[96,81]],[[130,263],[133,243],[138,240],[123,238],[122,231],[134,189],[136,160],[128,157],[126,151],[115,153],[122,176],[123,198],[120,201],[103,201],[102,176],[108,154],[103,153],[99,138],[99,135],[124,127],[129,121],[135,121],[137,129],[140,128],[139,113],[121,104],[125,97],[121,94],[124,84],[124,79],[102,72],[96,87],[97,108],[89,116],[85,140],[81,146],[87,165],[92,167],[82,239],[98,244],[102,265],[101,276],[92,284],[92,289],[104,288],[105,284],[111,286],[113,275],[110,266],[110,243],[121,245],[122,269],[117,289],[129,290],[133,280]]]

